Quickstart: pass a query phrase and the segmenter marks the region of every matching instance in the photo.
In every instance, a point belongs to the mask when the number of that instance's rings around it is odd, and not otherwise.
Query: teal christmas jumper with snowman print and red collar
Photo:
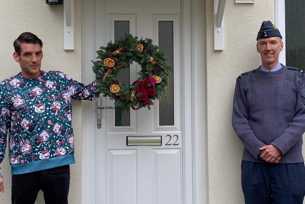
[[[95,82],[84,86],[61,71],[30,79],[19,73],[0,82],[0,163],[8,132],[12,174],[74,163],[71,99],[94,100],[95,89]]]

